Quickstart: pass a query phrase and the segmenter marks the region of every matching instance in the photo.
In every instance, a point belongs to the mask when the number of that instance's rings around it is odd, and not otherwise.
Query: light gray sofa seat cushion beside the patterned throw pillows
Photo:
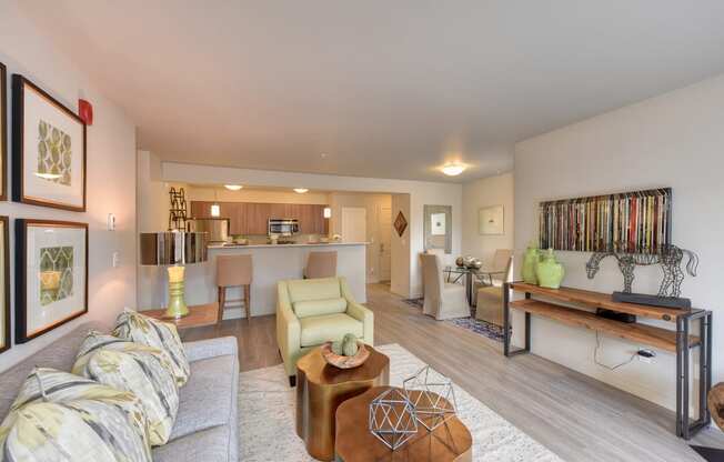
[[[233,355],[223,355],[191,363],[191,378],[179,390],[179,414],[171,440],[211,426],[224,425],[231,419],[234,393]]]

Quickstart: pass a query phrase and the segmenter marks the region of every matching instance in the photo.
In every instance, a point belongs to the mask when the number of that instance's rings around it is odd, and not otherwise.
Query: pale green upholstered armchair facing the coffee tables
[[[296,361],[315,346],[345,333],[373,344],[374,313],[354,301],[345,278],[279,281],[276,290],[276,342],[292,386]]]

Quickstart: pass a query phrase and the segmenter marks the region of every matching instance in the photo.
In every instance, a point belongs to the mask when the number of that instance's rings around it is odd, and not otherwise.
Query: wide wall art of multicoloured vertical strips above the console
[[[657,253],[671,244],[671,188],[541,202],[541,249]]]

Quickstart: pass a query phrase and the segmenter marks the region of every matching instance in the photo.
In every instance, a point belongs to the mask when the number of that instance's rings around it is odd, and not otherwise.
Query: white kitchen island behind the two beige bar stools
[[[336,274],[346,278],[358,302],[366,302],[366,242],[338,242],[209,245],[209,261],[190,264],[185,269],[187,303],[202,304],[217,300],[217,257],[249,254],[252,255],[253,265],[251,315],[273,314],[276,311],[276,282],[284,279],[302,279],[306,258],[313,251],[336,251]],[[240,289],[228,289],[227,300],[240,298]],[[243,315],[240,307],[228,307],[224,310],[224,319]]]

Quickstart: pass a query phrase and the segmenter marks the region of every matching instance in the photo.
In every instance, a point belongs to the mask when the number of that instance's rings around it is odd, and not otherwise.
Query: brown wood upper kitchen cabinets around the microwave
[[[212,218],[212,201],[191,201],[192,218]],[[217,202],[220,218],[229,219],[229,234],[258,234],[269,231],[270,218],[290,218],[299,220],[300,233],[326,234],[329,220],[324,218],[326,205],[301,203],[254,203],[254,202]]]

